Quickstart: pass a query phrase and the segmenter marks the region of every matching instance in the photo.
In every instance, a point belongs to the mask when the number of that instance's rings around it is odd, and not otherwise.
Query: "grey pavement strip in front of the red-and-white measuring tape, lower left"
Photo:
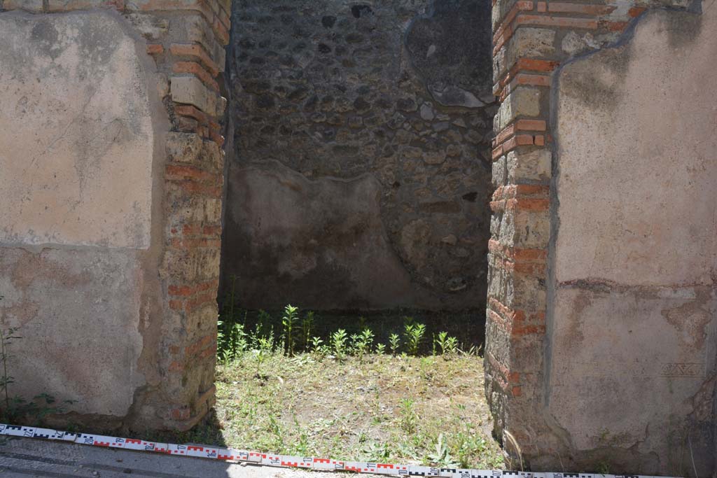
[[[27,478],[338,478],[351,474],[308,472],[169,457],[141,451],[97,448],[56,441],[11,438],[0,442],[0,477]],[[375,477],[376,475],[361,475]]]

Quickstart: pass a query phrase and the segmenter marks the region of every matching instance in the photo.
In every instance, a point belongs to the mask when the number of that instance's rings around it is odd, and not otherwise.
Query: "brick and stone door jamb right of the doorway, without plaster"
[[[485,391],[505,449],[561,466],[565,443],[543,413],[549,242],[551,86],[576,54],[614,42],[651,4],[493,2],[495,193],[488,254]],[[516,447],[517,444],[517,447]],[[563,453],[564,454],[564,453]]]

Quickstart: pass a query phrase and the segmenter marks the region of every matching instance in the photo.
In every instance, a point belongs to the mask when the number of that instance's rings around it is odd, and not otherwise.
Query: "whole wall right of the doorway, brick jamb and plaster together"
[[[485,386],[531,469],[713,472],[714,115],[695,92],[717,49],[700,11],[493,4]]]

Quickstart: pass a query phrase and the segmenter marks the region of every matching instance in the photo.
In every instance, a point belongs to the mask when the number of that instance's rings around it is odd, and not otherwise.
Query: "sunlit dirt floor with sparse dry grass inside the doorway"
[[[257,351],[217,370],[227,446],[379,462],[502,468],[476,355],[344,360]]]

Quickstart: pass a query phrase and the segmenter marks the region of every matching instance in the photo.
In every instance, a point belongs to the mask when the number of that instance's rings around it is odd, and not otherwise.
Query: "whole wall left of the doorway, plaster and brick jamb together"
[[[0,0],[11,393],[105,428],[214,403],[229,0]]]

